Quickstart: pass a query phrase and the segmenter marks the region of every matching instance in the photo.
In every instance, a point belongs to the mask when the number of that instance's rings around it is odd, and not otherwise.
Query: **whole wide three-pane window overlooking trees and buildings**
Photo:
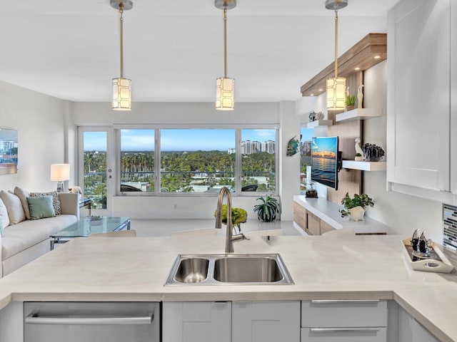
[[[119,128],[118,191],[276,192],[276,135],[276,128]]]

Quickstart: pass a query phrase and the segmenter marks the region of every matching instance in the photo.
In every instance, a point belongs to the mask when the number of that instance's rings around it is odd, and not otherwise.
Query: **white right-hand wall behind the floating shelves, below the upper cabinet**
[[[364,106],[382,108],[381,118],[363,122],[363,143],[386,151],[386,61],[364,74]],[[388,151],[386,151],[386,155]],[[442,204],[429,199],[386,191],[386,172],[363,172],[363,192],[373,198],[367,215],[391,227],[391,234],[410,235],[414,229],[426,230],[426,236],[443,243]]]

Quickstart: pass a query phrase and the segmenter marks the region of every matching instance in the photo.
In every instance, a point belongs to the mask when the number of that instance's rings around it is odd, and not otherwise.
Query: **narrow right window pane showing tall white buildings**
[[[276,130],[241,130],[241,191],[276,191]]]

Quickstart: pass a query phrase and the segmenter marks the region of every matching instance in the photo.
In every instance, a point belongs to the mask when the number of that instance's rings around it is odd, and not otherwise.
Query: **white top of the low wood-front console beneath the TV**
[[[365,216],[363,221],[353,221],[347,217],[341,217],[338,209],[343,208],[343,206],[332,203],[324,197],[306,198],[303,195],[294,195],[293,201],[301,204],[306,210],[323,219],[335,229],[349,228],[353,229],[356,234],[388,232],[386,224],[368,216]]]

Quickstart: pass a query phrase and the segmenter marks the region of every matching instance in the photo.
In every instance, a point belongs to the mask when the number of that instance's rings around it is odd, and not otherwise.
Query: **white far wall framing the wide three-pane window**
[[[286,157],[287,142],[300,135],[301,117],[295,113],[295,104],[281,103],[236,103],[236,109],[221,112],[214,109],[214,103],[133,103],[130,112],[111,110],[109,103],[74,103],[73,123],[75,125],[152,124],[176,125],[273,125],[281,130],[277,144],[280,166],[277,171],[278,195],[281,199],[282,220],[292,220],[293,195],[299,192],[299,155]],[[253,196],[233,196],[233,205],[242,207],[250,218],[256,217]],[[175,207],[177,209],[175,209]],[[216,197],[179,196],[117,196],[113,199],[113,214],[134,218],[212,218],[216,209]]]

